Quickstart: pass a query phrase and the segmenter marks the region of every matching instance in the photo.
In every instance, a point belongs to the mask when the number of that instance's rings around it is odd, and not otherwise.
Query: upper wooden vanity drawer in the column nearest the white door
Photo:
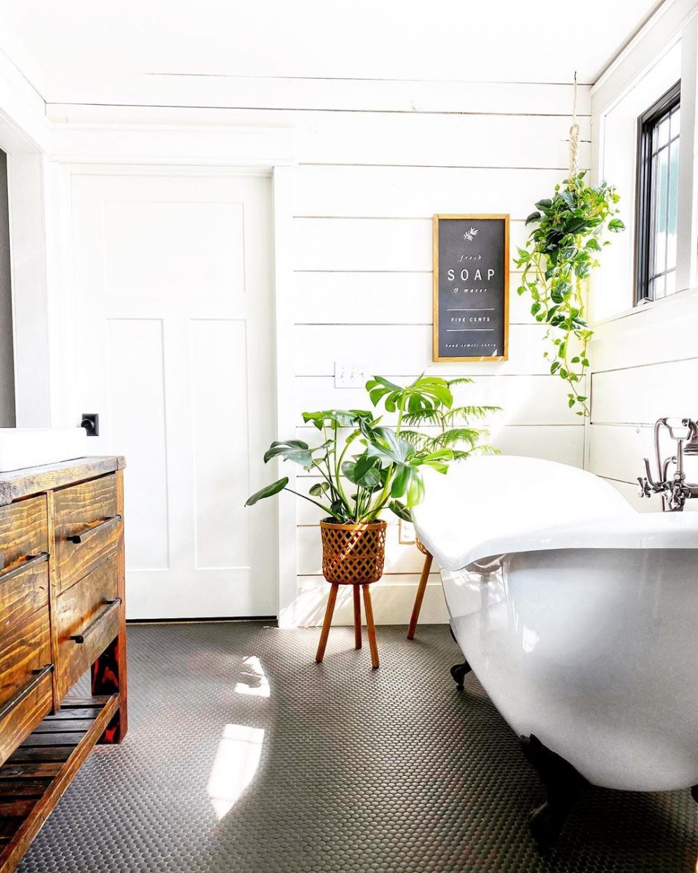
[[[90,573],[119,546],[121,517],[113,475],[55,491],[58,593]]]

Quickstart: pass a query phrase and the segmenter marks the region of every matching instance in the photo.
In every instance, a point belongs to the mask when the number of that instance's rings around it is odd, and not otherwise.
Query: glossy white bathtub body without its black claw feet
[[[528,457],[425,480],[417,533],[511,727],[594,785],[698,784],[698,512],[635,512],[591,473]]]

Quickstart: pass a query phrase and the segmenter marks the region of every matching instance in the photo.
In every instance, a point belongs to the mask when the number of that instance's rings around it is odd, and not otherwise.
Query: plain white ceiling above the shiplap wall
[[[81,78],[133,73],[569,82],[576,69],[592,83],[657,5],[0,0],[0,18],[37,62],[44,97],[69,100]]]

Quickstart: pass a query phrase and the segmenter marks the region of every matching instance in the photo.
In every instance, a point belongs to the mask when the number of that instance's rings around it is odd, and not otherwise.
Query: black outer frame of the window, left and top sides
[[[681,106],[681,79],[638,119],[637,196],[635,203],[635,305],[654,297],[649,291],[652,232],[652,138],[669,113]],[[679,147],[681,148],[681,146]]]

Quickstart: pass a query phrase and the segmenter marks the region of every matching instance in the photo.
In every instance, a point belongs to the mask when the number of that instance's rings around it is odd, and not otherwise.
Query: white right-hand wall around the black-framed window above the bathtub
[[[660,416],[697,416],[698,290],[695,288],[695,77],[698,3],[675,0],[660,10],[592,89],[596,173],[619,188],[626,234],[613,239],[592,286],[597,321],[590,346],[592,420],[587,466],[608,478],[638,508],[642,457],[653,457],[652,425]],[[633,244],[637,118],[681,78],[679,206],[680,292],[633,306]],[[672,454],[671,444],[663,455]],[[698,480],[695,460],[689,478]],[[689,504],[690,507],[690,504]]]

